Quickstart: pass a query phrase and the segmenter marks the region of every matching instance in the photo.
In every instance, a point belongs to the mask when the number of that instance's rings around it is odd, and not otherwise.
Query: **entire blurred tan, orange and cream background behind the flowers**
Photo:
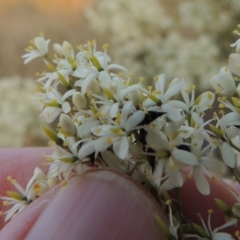
[[[227,64],[240,23],[239,0],[0,0],[0,147],[47,145],[34,102],[41,59],[24,65],[31,39],[44,33],[73,46],[96,39],[136,79],[185,78],[199,91]]]

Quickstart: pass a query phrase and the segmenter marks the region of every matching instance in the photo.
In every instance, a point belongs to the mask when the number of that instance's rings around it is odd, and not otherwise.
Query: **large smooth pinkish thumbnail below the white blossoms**
[[[155,199],[132,180],[91,171],[59,190],[24,239],[166,239],[154,218],[159,214],[166,221]]]

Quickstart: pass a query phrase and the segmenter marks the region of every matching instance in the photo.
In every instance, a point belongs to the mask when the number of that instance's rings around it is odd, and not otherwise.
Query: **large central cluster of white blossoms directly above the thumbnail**
[[[164,74],[146,89],[144,79],[134,81],[125,67],[111,63],[108,46],[97,51],[95,41],[79,46],[77,54],[66,41],[54,44],[52,60],[48,44],[42,36],[35,38],[35,48],[23,57],[27,63],[42,56],[51,70],[38,79],[40,116],[47,123],[58,121],[57,133],[44,128],[57,143],[47,157],[51,176],[66,179],[95,164],[145,176],[160,194],[181,187],[181,169],[190,166],[199,191],[209,194],[204,174],[224,171],[212,154],[216,141],[205,129],[211,120],[204,122],[214,93],[195,97],[194,86],[184,79],[167,81]]]

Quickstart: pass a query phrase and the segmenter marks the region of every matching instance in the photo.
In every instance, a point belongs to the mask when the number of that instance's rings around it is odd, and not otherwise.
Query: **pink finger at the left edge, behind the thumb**
[[[50,153],[50,148],[16,148],[0,150],[0,195],[5,196],[7,190],[16,191],[15,187],[7,181],[11,175],[25,188],[32,177],[35,167],[42,167],[42,153]],[[3,210],[3,207],[1,208]],[[6,209],[4,209],[5,211]],[[4,226],[4,216],[0,217],[0,229]]]

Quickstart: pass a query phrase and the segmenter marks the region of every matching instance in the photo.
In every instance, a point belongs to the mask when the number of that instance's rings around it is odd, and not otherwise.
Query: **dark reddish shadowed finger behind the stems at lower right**
[[[219,208],[215,199],[224,201],[230,208],[237,202],[234,195],[230,192],[229,185],[227,185],[220,178],[208,179],[211,192],[209,195],[202,195],[196,188],[194,179],[187,179],[181,189],[181,204],[182,211],[185,216],[202,226],[201,220],[198,214],[204,219],[205,223],[208,219],[208,210],[213,210],[211,216],[211,226],[215,229],[226,222],[225,213]],[[239,229],[240,224],[237,228]],[[234,234],[237,230],[236,227],[229,227],[222,231]]]

